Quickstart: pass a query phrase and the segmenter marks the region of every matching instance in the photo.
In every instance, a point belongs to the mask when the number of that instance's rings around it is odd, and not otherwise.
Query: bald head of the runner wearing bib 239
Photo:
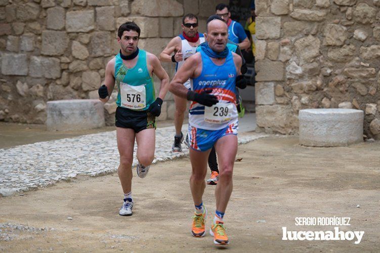
[[[227,24],[219,19],[208,22],[204,37],[211,49],[215,52],[222,52],[226,48],[228,40]]]

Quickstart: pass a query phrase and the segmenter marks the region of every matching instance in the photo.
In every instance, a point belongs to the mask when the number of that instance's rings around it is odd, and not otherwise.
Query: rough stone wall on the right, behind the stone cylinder
[[[258,129],[298,132],[306,108],[363,110],[380,139],[380,0],[256,0]]]

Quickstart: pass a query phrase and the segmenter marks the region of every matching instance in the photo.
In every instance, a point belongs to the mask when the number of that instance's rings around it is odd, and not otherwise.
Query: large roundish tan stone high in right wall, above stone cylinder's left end
[[[320,40],[317,37],[309,35],[295,41],[295,54],[301,59],[301,62],[312,62],[320,55]]]

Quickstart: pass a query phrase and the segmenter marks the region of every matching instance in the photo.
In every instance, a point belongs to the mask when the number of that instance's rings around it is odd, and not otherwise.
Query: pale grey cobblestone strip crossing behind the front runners
[[[153,163],[189,154],[187,148],[180,153],[172,152],[174,134],[174,126],[157,128]],[[238,141],[242,144],[266,136],[245,133],[238,137]],[[136,149],[135,144],[133,166],[137,164]],[[48,186],[76,175],[112,173],[118,164],[116,131],[0,149],[0,195]]]

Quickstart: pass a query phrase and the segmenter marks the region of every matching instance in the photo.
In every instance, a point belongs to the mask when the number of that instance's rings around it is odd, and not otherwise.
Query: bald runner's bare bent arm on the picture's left
[[[186,98],[189,91],[183,84],[189,79],[200,75],[202,70],[202,58],[199,53],[189,57],[170,83],[169,90],[173,94]]]

